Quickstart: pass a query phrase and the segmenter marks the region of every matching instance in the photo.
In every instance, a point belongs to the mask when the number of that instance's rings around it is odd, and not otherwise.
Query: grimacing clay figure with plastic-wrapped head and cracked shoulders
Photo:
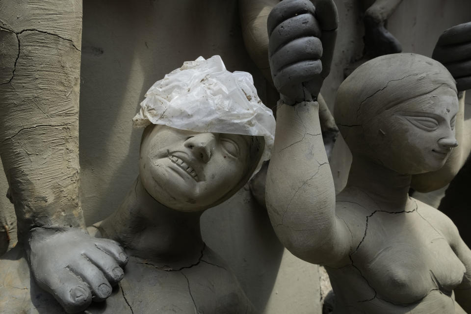
[[[126,277],[87,313],[254,312],[200,231],[203,211],[231,197],[269,158],[275,120],[251,79],[226,71],[213,56],[185,62],[147,92],[134,118],[136,126],[147,126],[139,176],[120,208],[89,227],[91,235],[126,248]],[[0,304],[9,311],[63,313],[22,274],[27,264],[21,254],[13,249],[1,267],[10,286],[32,294],[0,288]],[[19,301],[7,303],[13,295]]]

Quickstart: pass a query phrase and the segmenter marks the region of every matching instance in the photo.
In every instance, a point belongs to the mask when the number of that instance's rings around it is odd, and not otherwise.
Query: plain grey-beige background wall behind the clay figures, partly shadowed
[[[147,89],[183,61],[220,54],[228,70],[248,71],[263,100],[270,88],[243,45],[236,0],[84,0],[80,85],[81,202],[88,224],[105,218],[131,187],[141,130],[131,118]],[[356,0],[336,0],[340,32],[332,72],[322,94],[333,107],[343,70],[361,57],[361,10]],[[443,30],[471,21],[469,0],[403,0],[388,28],[404,52],[430,56]],[[273,106],[273,103],[266,103]],[[331,160],[337,189],[349,155],[339,140]],[[0,225],[14,235],[11,204],[0,178]],[[265,313],[320,313],[317,266],[284,251],[266,212],[248,188],[209,209],[203,236],[235,270],[241,286]],[[3,237],[3,238],[2,238]],[[0,227],[0,251],[6,233]],[[13,243],[11,241],[11,243]]]

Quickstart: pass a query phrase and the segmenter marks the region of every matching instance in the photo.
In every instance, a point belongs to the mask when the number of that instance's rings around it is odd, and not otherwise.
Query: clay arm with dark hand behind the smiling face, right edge
[[[456,115],[455,136],[459,146],[455,147],[438,171],[412,177],[412,187],[419,192],[429,192],[450,183],[470,156],[471,139],[464,134],[465,90],[471,88],[471,22],[453,26],[440,36],[432,57],[442,62],[457,84],[459,111]]]

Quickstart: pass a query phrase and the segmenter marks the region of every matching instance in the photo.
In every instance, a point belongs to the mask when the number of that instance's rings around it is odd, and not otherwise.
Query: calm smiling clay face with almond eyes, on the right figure
[[[458,98],[442,85],[395,105],[364,126],[373,159],[401,174],[439,170],[453,147]]]

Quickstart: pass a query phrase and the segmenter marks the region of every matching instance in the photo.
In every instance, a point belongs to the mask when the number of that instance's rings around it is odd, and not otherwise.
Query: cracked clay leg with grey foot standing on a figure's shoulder
[[[38,285],[78,312],[111,293],[127,261],[116,243],[83,230],[81,1],[6,0],[0,8],[0,155],[19,242]]]

